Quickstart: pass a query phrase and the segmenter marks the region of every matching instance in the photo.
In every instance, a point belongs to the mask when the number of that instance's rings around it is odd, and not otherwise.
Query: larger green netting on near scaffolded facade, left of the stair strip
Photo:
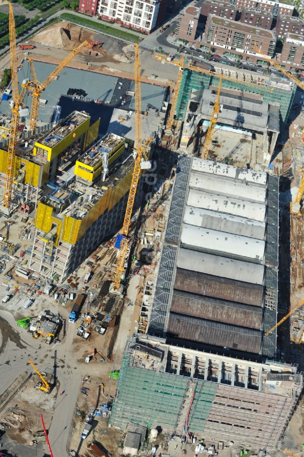
[[[118,397],[112,405],[109,424],[125,429],[128,422],[174,428],[189,378],[129,367],[124,354],[117,382]]]

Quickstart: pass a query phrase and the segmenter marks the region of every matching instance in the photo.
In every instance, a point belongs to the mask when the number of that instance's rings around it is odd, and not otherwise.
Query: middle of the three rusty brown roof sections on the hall
[[[173,292],[171,312],[257,330],[261,329],[262,323],[262,308],[257,306],[178,290]]]

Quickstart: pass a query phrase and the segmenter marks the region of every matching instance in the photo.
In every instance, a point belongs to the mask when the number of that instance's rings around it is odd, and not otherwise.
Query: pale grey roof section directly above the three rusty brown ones
[[[264,283],[264,266],[261,264],[184,248],[179,249],[177,267],[251,284],[263,285]]]

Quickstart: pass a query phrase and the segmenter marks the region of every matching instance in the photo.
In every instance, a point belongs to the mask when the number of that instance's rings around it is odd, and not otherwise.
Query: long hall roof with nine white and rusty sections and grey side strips
[[[277,177],[181,157],[148,333],[273,357],[275,332],[263,334],[276,322],[277,265]]]

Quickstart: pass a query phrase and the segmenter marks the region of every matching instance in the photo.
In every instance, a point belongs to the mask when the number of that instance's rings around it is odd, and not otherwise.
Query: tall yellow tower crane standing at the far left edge
[[[27,93],[27,86],[22,84],[21,91],[18,90],[17,78],[17,52],[16,52],[16,30],[13,6],[9,3],[9,32],[10,32],[10,54],[11,54],[11,83],[13,99],[10,103],[11,107],[11,128],[10,138],[7,151],[7,163],[5,173],[5,184],[3,194],[3,206],[10,213],[11,190],[13,186],[14,171],[15,171],[15,154],[17,143],[17,132],[19,126],[19,110],[24,108],[23,100]]]

